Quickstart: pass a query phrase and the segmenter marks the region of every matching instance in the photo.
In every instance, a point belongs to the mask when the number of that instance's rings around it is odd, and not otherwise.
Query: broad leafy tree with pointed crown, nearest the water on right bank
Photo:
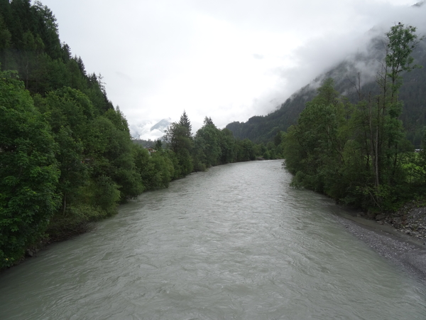
[[[307,102],[297,121],[285,136],[285,158],[295,185],[335,195],[332,181],[337,180],[344,163],[346,137],[339,128],[345,124],[344,104],[334,90],[334,80],[324,80],[318,95]]]

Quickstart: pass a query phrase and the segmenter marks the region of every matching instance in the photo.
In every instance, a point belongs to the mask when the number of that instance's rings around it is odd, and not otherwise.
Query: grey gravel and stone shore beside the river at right
[[[426,206],[411,202],[391,214],[347,210],[337,215],[347,230],[379,255],[403,267],[426,284]]]

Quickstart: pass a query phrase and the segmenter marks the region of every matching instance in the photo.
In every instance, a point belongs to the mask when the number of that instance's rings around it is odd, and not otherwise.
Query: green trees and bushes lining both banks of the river
[[[413,232],[424,228],[395,215],[404,203],[425,201],[426,151],[415,152],[405,138],[399,99],[402,75],[419,68],[411,53],[421,38],[415,27],[398,24],[385,41],[376,90],[354,83],[358,102],[327,79],[297,123],[287,132],[271,129],[261,144],[235,139],[211,117],[193,133],[183,111],[148,151],[132,139],[102,75],[88,74],[60,42],[50,9],[0,1],[0,269],[19,262],[28,248],[84,232],[143,191],[257,158],[284,157],[295,187],[379,221],[412,225]]]

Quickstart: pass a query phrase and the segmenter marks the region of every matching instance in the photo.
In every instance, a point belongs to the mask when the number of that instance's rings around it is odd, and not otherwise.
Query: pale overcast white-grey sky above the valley
[[[133,137],[204,117],[223,128],[265,115],[365,49],[371,29],[425,28],[416,0],[40,0],[87,73],[103,77]]]

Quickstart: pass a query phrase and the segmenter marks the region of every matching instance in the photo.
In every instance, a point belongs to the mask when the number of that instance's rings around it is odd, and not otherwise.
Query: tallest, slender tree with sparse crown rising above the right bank
[[[398,119],[403,107],[402,102],[398,101],[398,90],[403,84],[400,74],[419,68],[413,65],[414,59],[411,57],[419,39],[415,31],[413,26],[398,23],[386,33],[386,56],[377,78],[381,95],[373,99],[369,97],[367,101],[376,203],[383,202],[381,185],[389,186],[398,180],[398,156],[404,140],[403,124]]]

